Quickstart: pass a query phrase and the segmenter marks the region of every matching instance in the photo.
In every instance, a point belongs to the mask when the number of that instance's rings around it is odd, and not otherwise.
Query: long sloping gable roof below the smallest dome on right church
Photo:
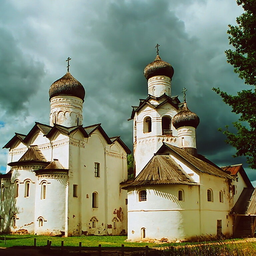
[[[221,168],[216,168],[215,166],[198,159],[190,154],[188,154],[185,150],[179,147],[175,147],[173,145],[167,144],[163,142],[161,148],[157,151],[157,153],[164,153],[166,150],[171,150],[172,152],[179,155],[183,160],[190,163],[193,167],[195,167],[199,172],[214,175],[217,177],[233,179],[228,173],[226,173]]]

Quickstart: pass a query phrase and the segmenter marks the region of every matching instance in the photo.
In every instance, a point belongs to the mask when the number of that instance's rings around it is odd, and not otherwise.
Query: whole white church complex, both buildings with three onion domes
[[[69,65],[68,65],[69,67]],[[68,72],[49,90],[50,125],[15,133],[0,176],[0,232],[190,239],[253,236],[256,190],[241,164],[218,167],[197,153],[198,116],[171,95],[172,66],[144,69],[146,99],[133,106],[130,150],[101,124],[82,125],[84,87]]]

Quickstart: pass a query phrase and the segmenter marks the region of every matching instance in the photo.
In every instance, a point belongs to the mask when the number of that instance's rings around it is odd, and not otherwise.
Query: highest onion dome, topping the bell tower
[[[156,55],[155,60],[144,68],[146,79],[152,76],[168,76],[172,79],[173,73],[173,67],[168,62],[161,60],[159,55]]]

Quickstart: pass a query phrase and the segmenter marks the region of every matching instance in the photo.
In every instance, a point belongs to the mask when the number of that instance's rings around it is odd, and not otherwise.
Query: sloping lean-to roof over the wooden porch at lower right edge
[[[231,214],[256,215],[256,188],[244,188]]]

